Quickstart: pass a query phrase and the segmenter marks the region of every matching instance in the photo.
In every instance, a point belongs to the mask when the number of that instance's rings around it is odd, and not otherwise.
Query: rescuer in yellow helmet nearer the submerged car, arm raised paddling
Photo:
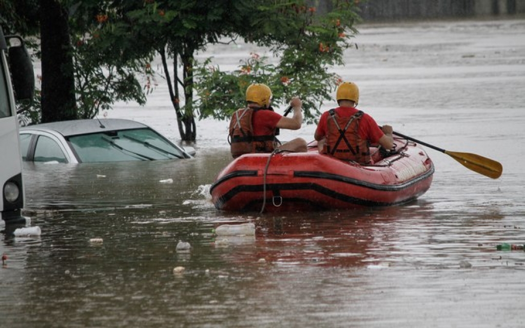
[[[271,108],[271,90],[266,84],[255,83],[246,89],[246,107],[240,108],[230,121],[228,141],[234,158],[253,152],[307,151],[306,141],[296,138],[278,145],[277,128],[297,130],[302,125],[302,102],[293,97],[293,116],[275,113]]]

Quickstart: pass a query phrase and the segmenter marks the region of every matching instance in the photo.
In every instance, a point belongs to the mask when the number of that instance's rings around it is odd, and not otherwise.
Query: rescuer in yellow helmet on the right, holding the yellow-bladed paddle
[[[341,83],[335,97],[339,107],[321,115],[314,134],[321,154],[366,165],[371,163],[370,144],[386,150],[394,147],[392,126],[380,128],[372,116],[356,108],[359,88],[355,83]]]

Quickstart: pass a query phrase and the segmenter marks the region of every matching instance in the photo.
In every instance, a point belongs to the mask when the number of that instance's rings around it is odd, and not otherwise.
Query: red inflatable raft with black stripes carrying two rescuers
[[[394,138],[383,158],[372,147],[373,165],[341,161],[317,152],[247,154],[217,176],[210,193],[218,210],[308,211],[391,206],[412,201],[432,183],[434,165],[412,141]]]

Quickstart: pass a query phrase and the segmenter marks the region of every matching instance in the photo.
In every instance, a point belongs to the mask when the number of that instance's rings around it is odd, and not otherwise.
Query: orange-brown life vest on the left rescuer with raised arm
[[[271,135],[254,136],[253,114],[258,109],[240,108],[230,121],[228,142],[233,158],[254,152],[272,152],[276,147],[276,129]]]

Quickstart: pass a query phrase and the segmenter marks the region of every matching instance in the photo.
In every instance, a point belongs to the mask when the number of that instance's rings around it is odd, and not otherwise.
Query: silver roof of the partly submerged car
[[[24,130],[55,131],[65,137],[82,134],[98,133],[104,131],[149,128],[139,122],[123,118],[100,118],[100,119],[75,119],[72,121],[60,121],[29,125],[20,128]]]

